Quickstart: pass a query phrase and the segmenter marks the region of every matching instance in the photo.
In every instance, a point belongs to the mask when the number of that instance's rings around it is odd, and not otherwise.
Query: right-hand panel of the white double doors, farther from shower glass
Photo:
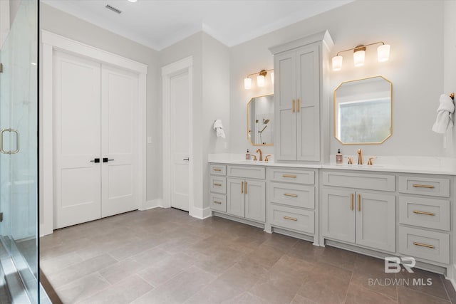
[[[138,74],[103,65],[101,215],[138,209]]]

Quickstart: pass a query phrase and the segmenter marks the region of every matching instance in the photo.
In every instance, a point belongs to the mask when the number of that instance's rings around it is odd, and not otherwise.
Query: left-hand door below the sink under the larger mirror
[[[340,241],[355,242],[355,210],[351,209],[351,195],[348,190],[323,189],[321,199],[323,236]]]

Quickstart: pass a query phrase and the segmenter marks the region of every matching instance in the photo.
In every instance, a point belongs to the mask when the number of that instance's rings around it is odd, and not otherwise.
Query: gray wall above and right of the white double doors
[[[81,41],[148,65],[147,72],[147,200],[162,198],[162,108],[158,53],[103,28],[41,3],[41,29]]]

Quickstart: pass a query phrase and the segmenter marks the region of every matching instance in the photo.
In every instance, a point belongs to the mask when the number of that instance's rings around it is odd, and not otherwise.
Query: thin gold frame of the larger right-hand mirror
[[[361,92],[360,95],[363,95],[363,98],[361,98],[363,100],[360,100],[360,101],[367,101],[366,100],[366,96],[369,96],[369,95],[373,96],[373,98],[372,98],[373,101],[381,100],[382,98],[383,99],[389,98],[389,107],[388,107],[388,112],[389,112],[389,130],[388,130],[388,134],[387,135],[385,134],[384,137],[382,137],[382,139],[378,140],[378,141],[343,142],[343,140],[341,140],[341,138],[338,137],[338,130],[337,130],[337,125],[338,125],[337,116],[339,114],[338,114],[338,110],[337,110],[338,103],[337,103],[337,100],[336,100],[336,92],[343,85],[356,85],[356,82],[363,82],[363,84],[364,83],[370,83],[371,81],[375,80],[375,78],[378,78],[378,80],[384,80],[385,81],[384,85],[389,87],[389,94],[382,95],[381,98],[379,98],[378,95],[381,95],[380,92],[387,92],[387,90],[382,90],[382,91],[378,91],[378,92],[367,92],[367,93],[366,92]],[[386,83],[388,83],[388,85],[386,85]],[[362,91],[362,90],[360,90],[360,91]],[[375,93],[378,93],[378,94],[375,94]],[[377,95],[377,96],[375,96],[375,95]],[[371,96],[369,96],[369,97],[371,97]],[[355,98],[353,98],[353,102],[356,102]],[[356,80],[344,81],[343,83],[338,85],[337,88],[333,91],[333,135],[334,135],[334,138],[336,138],[336,140],[338,140],[338,142],[341,142],[342,145],[381,145],[383,142],[385,142],[385,140],[388,140],[388,138],[390,138],[391,135],[393,135],[393,83],[391,83],[390,80],[384,78],[383,76],[378,75],[378,76],[373,76],[373,77],[368,77],[368,78],[361,78],[361,79],[356,79]]]

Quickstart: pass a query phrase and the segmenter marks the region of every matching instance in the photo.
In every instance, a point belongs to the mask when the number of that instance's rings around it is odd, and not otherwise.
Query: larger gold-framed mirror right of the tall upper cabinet
[[[345,145],[387,140],[392,133],[392,87],[382,76],[338,85],[334,90],[334,137]]]

